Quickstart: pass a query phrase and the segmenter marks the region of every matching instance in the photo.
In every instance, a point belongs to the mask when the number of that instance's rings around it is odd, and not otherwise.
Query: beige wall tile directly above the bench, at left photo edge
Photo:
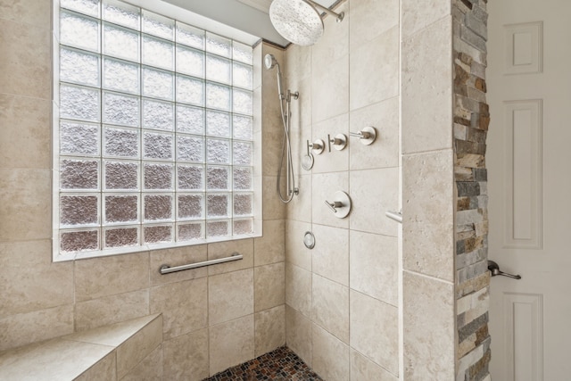
[[[0,351],[73,332],[73,305],[0,319]]]

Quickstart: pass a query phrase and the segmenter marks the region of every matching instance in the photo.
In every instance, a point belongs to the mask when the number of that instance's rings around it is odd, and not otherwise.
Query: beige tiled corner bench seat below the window
[[[0,380],[160,378],[161,343],[162,315],[145,316],[0,352]]]

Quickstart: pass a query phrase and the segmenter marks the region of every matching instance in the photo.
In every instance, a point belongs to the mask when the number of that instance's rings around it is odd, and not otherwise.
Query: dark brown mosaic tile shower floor
[[[203,381],[323,381],[286,346],[236,365]]]

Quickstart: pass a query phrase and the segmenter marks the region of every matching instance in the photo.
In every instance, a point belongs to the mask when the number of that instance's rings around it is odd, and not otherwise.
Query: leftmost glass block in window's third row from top
[[[77,50],[60,49],[60,80],[99,86],[99,56]]]

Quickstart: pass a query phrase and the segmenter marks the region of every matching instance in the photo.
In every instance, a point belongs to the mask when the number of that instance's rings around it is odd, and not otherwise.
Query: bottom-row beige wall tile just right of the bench
[[[208,329],[167,340],[162,348],[165,380],[201,381],[208,377]]]

